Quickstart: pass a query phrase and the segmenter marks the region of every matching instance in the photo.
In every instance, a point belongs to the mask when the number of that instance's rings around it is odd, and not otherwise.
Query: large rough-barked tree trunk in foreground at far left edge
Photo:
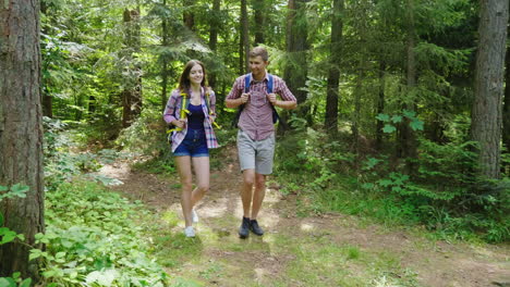
[[[28,261],[29,245],[41,248],[34,236],[45,232],[39,1],[8,1],[0,20],[0,185],[29,187],[26,198],[0,202],[4,225],[26,238],[0,245],[0,276],[36,279],[39,262]]]

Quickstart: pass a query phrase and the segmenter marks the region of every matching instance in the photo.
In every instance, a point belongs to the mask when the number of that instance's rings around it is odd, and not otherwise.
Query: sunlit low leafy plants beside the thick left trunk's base
[[[70,197],[69,195],[73,195]],[[42,258],[46,284],[165,286],[167,274],[148,254],[147,226],[154,222],[139,203],[130,203],[97,184],[61,184],[47,192],[46,234],[31,260]]]

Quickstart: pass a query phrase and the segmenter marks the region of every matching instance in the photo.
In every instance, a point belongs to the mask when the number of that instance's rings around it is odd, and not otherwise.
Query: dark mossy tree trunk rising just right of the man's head
[[[308,27],[306,22],[306,2],[308,0],[289,0],[287,15],[287,57],[288,61],[283,71],[283,78],[287,86],[298,100],[298,104],[306,101],[306,91],[301,88],[306,85],[308,73],[306,51],[308,49],[307,35]],[[308,113],[309,108],[300,108],[300,116],[312,121]],[[283,121],[287,120],[287,113],[282,114]],[[286,127],[279,126],[280,133]]]

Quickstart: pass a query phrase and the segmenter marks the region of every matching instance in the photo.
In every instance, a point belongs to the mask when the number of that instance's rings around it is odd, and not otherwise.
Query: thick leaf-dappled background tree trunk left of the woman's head
[[[134,57],[139,52],[141,46],[141,26],[139,8],[136,10],[124,10],[125,34],[125,61],[127,66],[127,78],[124,79],[125,88],[121,92],[122,97],[122,126],[129,127],[133,121],[142,113],[142,67],[135,63]]]

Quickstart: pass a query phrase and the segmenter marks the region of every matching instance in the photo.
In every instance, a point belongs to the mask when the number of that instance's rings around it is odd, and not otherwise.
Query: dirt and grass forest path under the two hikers
[[[120,162],[101,174],[174,224],[154,238],[172,286],[510,286],[510,246],[446,242],[422,230],[344,214],[299,216],[296,195],[271,182],[259,213],[266,234],[240,239],[241,176],[235,148],[223,149],[210,191],[197,205],[197,237],[185,238],[180,185]]]

